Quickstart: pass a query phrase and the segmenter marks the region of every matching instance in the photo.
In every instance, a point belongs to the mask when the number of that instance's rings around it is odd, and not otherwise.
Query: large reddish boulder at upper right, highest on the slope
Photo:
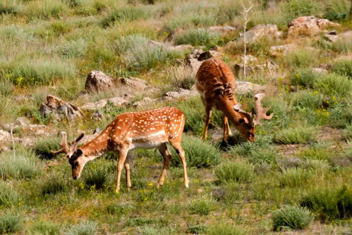
[[[301,16],[288,23],[288,37],[300,35],[317,35],[327,27],[340,26],[327,19],[320,19],[314,16]]]

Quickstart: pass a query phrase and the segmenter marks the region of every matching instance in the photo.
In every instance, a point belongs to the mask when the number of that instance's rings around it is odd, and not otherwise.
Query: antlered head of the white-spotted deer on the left
[[[68,158],[68,161],[72,167],[72,177],[73,179],[78,179],[81,176],[82,169],[84,165],[88,162],[87,157],[83,155],[83,151],[81,149],[77,149],[78,142],[82,140],[85,133],[82,132],[78,138],[67,144],[67,134],[66,132],[61,132],[62,142],[59,143],[61,147],[58,151],[50,151],[52,154],[64,153]]]

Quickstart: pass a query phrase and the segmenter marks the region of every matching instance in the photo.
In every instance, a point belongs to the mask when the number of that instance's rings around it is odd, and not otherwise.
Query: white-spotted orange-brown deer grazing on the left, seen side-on
[[[126,170],[128,190],[131,187],[130,163],[127,153],[135,148],[159,149],[164,158],[164,166],[158,182],[158,186],[162,185],[171,160],[171,153],[167,147],[167,142],[169,142],[180,155],[183,165],[184,186],[188,188],[186,160],[181,147],[184,122],[185,116],[182,111],[172,107],[124,113],[115,117],[101,134],[79,148],[77,148],[77,145],[85,135],[84,132],[69,145],[67,144],[66,133],[61,132],[62,142],[59,143],[61,149],[51,151],[51,153],[65,153],[72,166],[72,177],[78,179],[87,162],[92,161],[106,151],[114,151],[119,155],[115,188],[115,191],[119,192],[122,165],[125,166]]]

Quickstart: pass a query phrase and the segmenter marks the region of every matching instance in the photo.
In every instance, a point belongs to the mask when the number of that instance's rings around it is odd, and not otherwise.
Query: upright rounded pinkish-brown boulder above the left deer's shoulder
[[[90,72],[86,79],[86,92],[105,91],[114,86],[113,79],[98,70]]]

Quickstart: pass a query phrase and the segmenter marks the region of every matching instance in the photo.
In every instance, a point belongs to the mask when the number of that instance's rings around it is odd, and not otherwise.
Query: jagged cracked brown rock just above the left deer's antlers
[[[77,117],[81,118],[83,112],[74,104],[64,102],[62,99],[55,97],[54,95],[48,95],[46,97],[47,104],[42,103],[39,108],[39,112],[47,117],[52,113],[56,120],[61,121],[63,117],[68,120],[73,120]]]

